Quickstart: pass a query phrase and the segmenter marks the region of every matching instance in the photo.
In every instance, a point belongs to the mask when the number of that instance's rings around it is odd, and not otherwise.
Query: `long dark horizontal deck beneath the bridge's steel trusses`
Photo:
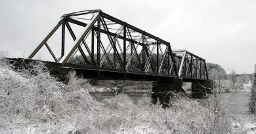
[[[16,67],[23,67],[29,63],[41,61],[35,59],[23,59],[23,58],[7,58],[11,63],[14,63]],[[179,78],[177,75],[165,75],[158,73],[143,73],[141,71],[123,71],[122,69],[112,69],[108,67],[95,67],[93,65],[79,65],[67,63],[62,65],[61,63],[52,61],[41,61],[45,63],[45,66],[50,70],[51,74],[65,80],[69,71],[75,71],[77,75],[83,76],[83,78],[94,79],[108,79],[108,80],[146,80],[146,81],[171,81],[174,78]],[[194,80],[208,80],[205,78],[188,78],[180,77],[184,82],[193,82]]]

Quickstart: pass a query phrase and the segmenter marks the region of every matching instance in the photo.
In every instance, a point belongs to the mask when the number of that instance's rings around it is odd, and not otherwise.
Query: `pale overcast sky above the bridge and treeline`
[[[0,50],[27,58],[62,14],[102,9],[228,72],[253,73],[255,0],[0,0]]]

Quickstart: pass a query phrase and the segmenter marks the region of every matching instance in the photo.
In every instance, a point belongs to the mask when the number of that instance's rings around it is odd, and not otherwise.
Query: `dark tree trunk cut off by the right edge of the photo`
[[[252,114],[256,114],[256,64],[254,67],[253,72],[253,80],[251,82],[251,98],[250,98],[250,104],[249,104],[249,111]]]

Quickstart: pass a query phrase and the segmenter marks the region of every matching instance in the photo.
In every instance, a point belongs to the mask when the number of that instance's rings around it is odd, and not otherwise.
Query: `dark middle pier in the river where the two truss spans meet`
[[[168,81],[154,81],[152,84],[152,103],[156,104],[158,99],[163,107],[169,106],[173,93],[182,91],[182,78],[173,78]]]

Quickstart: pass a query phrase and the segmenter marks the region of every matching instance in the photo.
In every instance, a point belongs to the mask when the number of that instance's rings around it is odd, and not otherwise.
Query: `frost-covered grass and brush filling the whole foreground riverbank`
[[[215,111],[186,97],[175,97],[168,109],[152,105],[146,95],[137,105],[124,94],[100,103],[89,94],[87,81],[74,72],[63,84],[43,63],[27,66],[29,70],[14,71],[0,58],[1,133],[232,132],[231,114],[223,112],[213,126]]]

